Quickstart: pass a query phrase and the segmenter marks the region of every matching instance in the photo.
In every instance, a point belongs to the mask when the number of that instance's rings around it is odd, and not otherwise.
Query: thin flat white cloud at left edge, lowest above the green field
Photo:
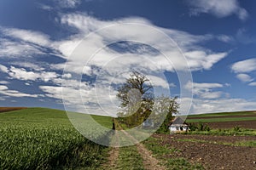
[[[39,96],[42,96],[42,95],[38,95],[38,94],[20,93],[17,90],[10,90],[7,86],[3,86],[3,85],[0,85],[0,94],[11,96],[11,97],[19,97],[19,98],[21,98],[21,97],[38,98]]]

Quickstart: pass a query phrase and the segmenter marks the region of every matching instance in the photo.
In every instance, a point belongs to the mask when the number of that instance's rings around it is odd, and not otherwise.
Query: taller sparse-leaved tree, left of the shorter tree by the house
[[[148,78],[138,71],[132,71],[125,83],[119,88],[118,99],[126,116],[125,123],[128,126],[141,124],[150,114],[154,93]]]

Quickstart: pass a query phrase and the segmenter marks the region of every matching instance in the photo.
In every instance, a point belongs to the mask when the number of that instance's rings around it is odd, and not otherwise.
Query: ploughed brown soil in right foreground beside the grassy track
[[[222,143],[256,140],[256,136],[204,136],[154,134],[161,144],[176,148],[170,158],[184,157],[201,163],[206,169],[256,169],[256,147],[232,146]],[[183,140],[197,141],[183,141]],[[203,140],[203,141],[198,141]]]

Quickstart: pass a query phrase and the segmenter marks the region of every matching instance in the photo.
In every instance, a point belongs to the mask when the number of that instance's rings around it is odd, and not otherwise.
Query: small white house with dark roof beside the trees
[[[175,117],[175,119],[172,121],[172,124],[169,127],[170,133],[181,133],[181,132],[187,132],[189,130],[189,126],[183,118],[180,116]]]

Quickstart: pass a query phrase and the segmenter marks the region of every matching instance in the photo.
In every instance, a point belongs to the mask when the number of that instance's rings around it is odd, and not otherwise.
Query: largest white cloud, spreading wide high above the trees
[[[199,46],[197,43],[208,41],[213,37],[211,35],[204,36],[195,36],[191,35],[188,32],[177,31],[172,29],[166,29],[161,27],[156,27],[152,25],[148,20],[143,18],[125,18],[119,20],[97,20],[94,17],[91,17],[87,14],[64,14],[61,16],[61,23],[67,24],[68,26],[73,26],[79,29],[81,35],[77,35],[76,37],[71,37],[71,39],[67,41],[62,41],[58,43],[59,50],[64,56],[70,56],[73,53],[73,50],[78,47],[79,44],[84,43],[84,47],[86,47],[86,52],[81,50],[81,54],[84,56],[90,57],[91,54],[94,54],[97,50],[108,45],[108,42],[119,42],[125,40],[137,39],[139,42],[145,42],[160,48],[165,54],[172,56],[173,65],[170,65],[170,62],[166,62],[166,59],[162,59],[161,56],[155,56],[154,54],[148,54],[148,59],[153,59],[155,61],[158,60],[157,65],[163,70],[173,71],[173,66],[175,66],[176,70],[183,70],[185,68],[186,62],[183,62],[182,59],[178,58],[177,48],[170,48],[170,44],[167,42],[163,42],[163,35],[153,33],[148,27],[152,26],[163,33],[166,33],[169,37],[171,37],[185,52],[185,56],[187,57],[189,66],[193,71],[201,70],[201,69],[211,69],[212,65],[217,63],[220,59],[223,59],[228,53],[214,53],[211,50],[204,49]],[[133,25],[129,29],[129,26],[125,26],[125,23],[137,23],[138,26]],[[123,25],[122,25],[123,24]],[[111,28],[111,26],[113,26]],[[145,26],[142,29],[142,26]],[[148,26],[148,27],[147,27]],[[105,28],[101,32],[96,32],[95,34],[90,34],[90,38],[86,39],[86,42],[81,42],[81,37],[84,37],[84,33],[89,33],[91,31],[96,31],[98,29]],[[108,32],[107,32],[108,30]],[[125,32],[125,34],[124,34]],[[150,35],[150,37],[148,37]],[[56,43],[57,44],[57,43]],[[173,45],[175,46],[175,45]],[[78,50],[76,48],[76,50]],[[104,54],[103,54],[104,52]],[[86,54],[85,54],[86,53]],[[101,51],[102,56],[97,54],[98,62],[99,59],[108,60],[113,57],[113,55],[117,54],[113,50],[109,50],[105,48]],[[79,52],[76,52],[79,54]],[[154,56],[153,56],[154,55]],[[180,54],[179,54],[180,55]],[[110,57],[108,57],[110,56]],[[177,56],[176,58],[174,56]],[[81,60],[70,59],[69,64],[73,65],[73,68],[77,68],[75,65],[79,64]],[[137,61],[137,63],[143,63]]]

